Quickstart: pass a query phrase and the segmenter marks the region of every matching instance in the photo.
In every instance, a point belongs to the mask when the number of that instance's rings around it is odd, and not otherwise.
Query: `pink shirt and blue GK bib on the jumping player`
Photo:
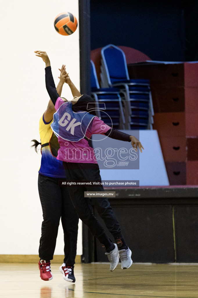
[[[82,95],[80,101],[86,97],[88,95]],[[87,140],[92,134],[105,134],[111,131],[111,127],[88,112],[73,112],[72,103],[65,102],[60,97],[56,100],[55,109],[51,128],[58,136],[60,144],[57,159],[63,162],[97,164],[94,150]]]

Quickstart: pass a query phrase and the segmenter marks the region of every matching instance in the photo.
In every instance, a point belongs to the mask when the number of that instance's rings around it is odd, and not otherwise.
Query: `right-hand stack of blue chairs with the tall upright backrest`
[[[109,44],[101,50],[101,86],[120,88],[125,129],[153,129],[153,102],[149,80],[130,79],[124,52]]]

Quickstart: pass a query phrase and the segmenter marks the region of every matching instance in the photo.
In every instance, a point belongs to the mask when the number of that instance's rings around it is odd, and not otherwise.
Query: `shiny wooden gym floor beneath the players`
[[[52,264],[53,279],[43,281],[37,264],[0,263],[1,298],[197,298],[198,264],[76,264],[76,283],[63,280],[61,264]]]

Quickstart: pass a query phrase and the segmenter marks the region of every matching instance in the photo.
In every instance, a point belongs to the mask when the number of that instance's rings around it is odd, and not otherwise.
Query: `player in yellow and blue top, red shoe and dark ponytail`
[[[62,86],[66,82],[73,94],[79,96],[79,91],[71,82],[65,67],[60,69],[60,81],[57,86],[57,92],[61,95]],[[56,246],[56,238],[61,218],[64,231],[64,254],[60,271],[63,278],[69,282],[75,283],[74,264],[76,257],[77,235],[78,235],[78,215],[70,200],[67,187],[59,187],[59,179],[65,179],[65,169],[62,161],[56,159],[59,142],[51,129],[55,108],[51,100],[49,100],[47,110],[40,118],[39,133],[40,140],[32,140],[35,150],[41,144],[41,166],[38,176],[38,190],[43,210],[43,223],[41,227],[41,238],[39,246],[39,269],[42,280],[51,280],[50,260],[53,259]]]

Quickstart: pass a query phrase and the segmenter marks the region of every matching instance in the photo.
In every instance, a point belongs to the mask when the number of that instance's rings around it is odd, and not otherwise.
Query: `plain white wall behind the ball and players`
[[[55,84],[66,70],[77,88],[79,79],[79,27],[70,36],[54,29],[57,14],[69,11],[78,19],[78,0],[11,0],[1,3],[1,208],[0,254],[38,254],[42,209],[37,176],[40,154],[30,149],[39,140],[39,119],[49,96],[45,89],[45,63],[35,50],[48,53]],[[62,96],[72,98],[68,86]],[[81,224],[77,254],[82,254]],[[63,253],[63,233],[55,254]]]

